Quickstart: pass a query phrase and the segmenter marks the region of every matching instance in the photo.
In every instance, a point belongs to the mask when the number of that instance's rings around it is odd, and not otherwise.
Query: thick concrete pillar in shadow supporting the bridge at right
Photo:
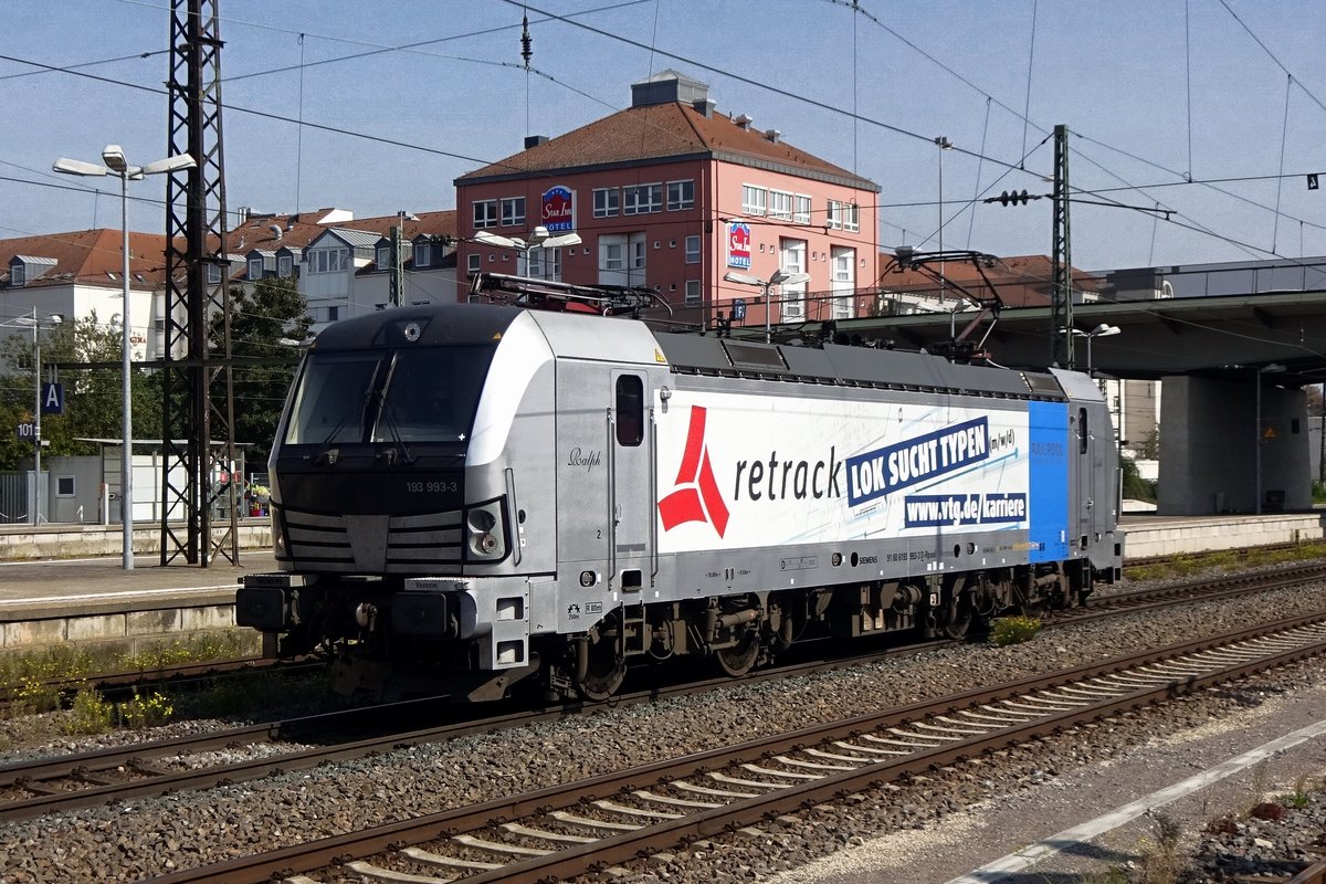
[[[1311,481],[1302,390],[1253,368],[1246,382],[1164,379],[1158,513],[1256,513],[1258,497],[1262,513],[1306,510]]]

